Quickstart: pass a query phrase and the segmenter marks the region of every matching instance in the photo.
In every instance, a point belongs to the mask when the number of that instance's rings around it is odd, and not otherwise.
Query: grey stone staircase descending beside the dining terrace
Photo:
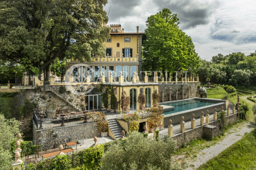
[[[124,130],[122,128],[122,126],[118,123],[118,121],[116,121],[116,119],[109,119],[109,130],[110,130],[110,134],[109,136],[113,139],[119,139],[121,138],[122,135],[122,131]]]

